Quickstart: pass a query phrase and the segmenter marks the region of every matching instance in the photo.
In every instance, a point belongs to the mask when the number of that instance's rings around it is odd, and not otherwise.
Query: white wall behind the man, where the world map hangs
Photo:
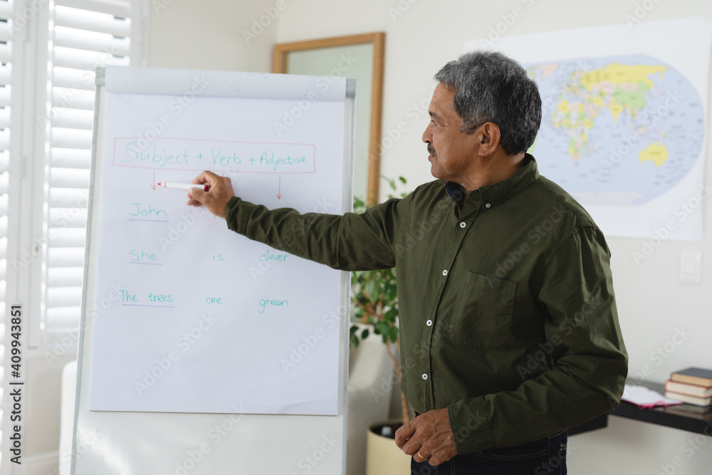
[[[649,0],[652,4],[652,0]],[[505,33],[519,35],[582,26],[624,23],[642,0],[534,0],[525,14]],[[392,147],[383,151],[382,173],[399,174],[409,187],[431,179],[421,135],[428,119],[413,108],[429,98],[432,75],[463,52],[464,41],[485,36],[500,16],[515,6],[532,4],[520,0],[484,2],[471,0],[300,0],[290,1],[278,24],[279,42],[385,31],[386,64],[383,108],[383,137],[388,130],[407,122],[408,130]],[[403,14],[392,16],[392,12]],[[391,9],[391,10],[389,10]],[[656,0],[644,21],[712,16],[708,0]],[[694,51],[681,51],[693,54]],[[427,100],[425,101],[427,103]],[[709,163],[709,152],[707,162]],[[706,179],[712,182],[712,167]],[[691,190],[691,196],[694,190]],[[383,193],[382,193],[383,194]],[[664,382],[671,371],[698,365],[712,367],[712,286],[703,277],[701,286],[679,283],[681,251],[704,251],[712,243],[712,206],[705,206],[706,239],[699,243],[667,241],[639,266],[631,253],[639,251],[639,239],[610,238],[614,285],[624,338],[630,354],[630,374],[649,366],[646,379]],[[661,216],[661,226],[674,216]],[[712,266],[712,252],[703,254],[703,271]],[[676,328],[691,333],[666,356],[656,356],[657,348],[671,342]],[[671,343],[669,343],[668,348]],[[709,473],[712,466],[712,438],[703,439],[701,450],[683,452],[693,434],[611,418],[602,431],[572,437],[570,471],[575,474],[651,474],[675,457],[684,462],[675,474]],[[671,469],[671,467],[667,467]]]

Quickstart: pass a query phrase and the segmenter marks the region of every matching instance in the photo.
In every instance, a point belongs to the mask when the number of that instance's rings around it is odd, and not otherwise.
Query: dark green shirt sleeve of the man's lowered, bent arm
[[[516,390],[451,404],[459,453],[541,439],[617,406],[628,355],[609,257],[601,231],[586,227],[545,261],[538,303],[547,314],[546,339],[531,357],[546,370],[520,367],[523,382]]]

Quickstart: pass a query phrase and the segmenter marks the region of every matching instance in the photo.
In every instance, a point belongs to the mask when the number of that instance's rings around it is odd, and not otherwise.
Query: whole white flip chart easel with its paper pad
[[[72,473],[344,473],[349,274],[157,182],[210,169],[269,208],[350,211],[355,81],[96,83]]]

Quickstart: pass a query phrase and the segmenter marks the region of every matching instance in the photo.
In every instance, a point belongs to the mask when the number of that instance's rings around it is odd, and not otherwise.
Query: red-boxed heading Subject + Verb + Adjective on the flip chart
[[[114,139],[113,165],[147,169],[245,173],[315,173],[316,147],[310,144],[156,139],[140,147],[133,137]]]

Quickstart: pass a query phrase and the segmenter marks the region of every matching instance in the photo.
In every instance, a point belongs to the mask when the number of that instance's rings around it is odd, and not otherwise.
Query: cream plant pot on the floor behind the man
[[[376,422],[366,432],[366,475],[407,475],[412,456],[406,455],[395,442],[403,425],[400,420]],[[385,428],[385,430],[384,430]],[[390,434],[389,437],[382,434]]]

